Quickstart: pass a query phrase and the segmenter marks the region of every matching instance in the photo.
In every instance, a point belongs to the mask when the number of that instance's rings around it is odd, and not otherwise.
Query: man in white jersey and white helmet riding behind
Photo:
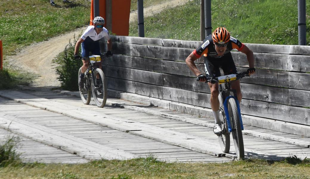
[[[108,51],[106,53],[107,57],[112,56],[112,41],[111,37],[109,35],[109,32],[106,28],[103,27],[104,25],[104,19],[100,16],[95,17],[93,20],[94,25],[90,25],[87,27],[85,32],[82,34],[81,38],[78,39],[78,42],[75,45],[74,49],[74,58],[76,60],[80,60],[82,56],[83,66],[82,66],[82,74],[80,74],[80,87],[84,86],[84,83],[82,83],[82,79],[85,76],[85,71],[89,66],[89,53],[91,52],[93,55],[101,55],[100,53],[100,45],[99,40],[101,38],[106,38],[107,44],[108,44]],[[80,45],[82,44],[82,53],[81,56],[78,54]],[[98,62],[96,65],[99,66],[101,69],[101,62]]]

